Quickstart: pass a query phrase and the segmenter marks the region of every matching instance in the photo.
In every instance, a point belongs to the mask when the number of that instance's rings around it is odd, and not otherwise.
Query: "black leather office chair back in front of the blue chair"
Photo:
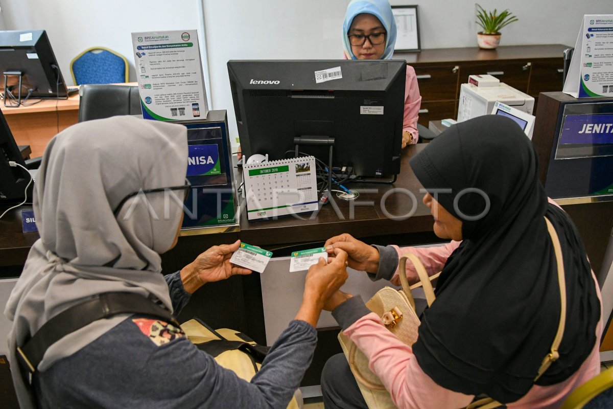
[[[142,115],[138,86],[86,84],[81,86],[79,94],[79,122],[115,115]]]

